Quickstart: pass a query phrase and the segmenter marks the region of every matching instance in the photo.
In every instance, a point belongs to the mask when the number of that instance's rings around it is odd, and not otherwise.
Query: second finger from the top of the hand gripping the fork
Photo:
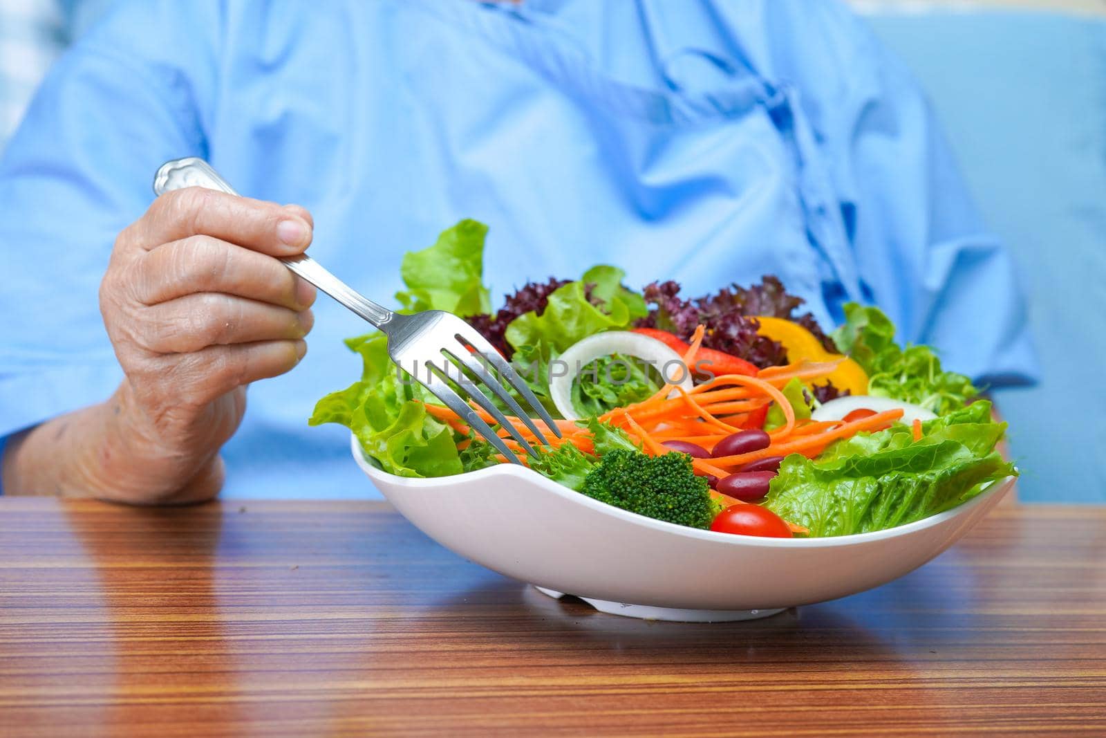
[[[301,311],[315,301],[315,288],[270,256],[189,236],[144,252],[136,262],[134,295],[146,305],[197,292],[223,292]]]

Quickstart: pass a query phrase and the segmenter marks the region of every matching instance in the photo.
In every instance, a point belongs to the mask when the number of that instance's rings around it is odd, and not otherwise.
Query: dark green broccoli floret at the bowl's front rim
[[[710,528],[718,513],[707,480],[695,475],[687,454],[609,450],[580,491],[623,510],[690,528]]]

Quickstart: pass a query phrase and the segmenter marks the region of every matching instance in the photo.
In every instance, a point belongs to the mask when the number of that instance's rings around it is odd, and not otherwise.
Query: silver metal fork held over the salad
[[[167,162],[161,165],[154,177],[154,191],[158,195],[185,187],[207,187],[238,195],[207,162],[196,157]],[[514,412],[514,415],[534,434],[539,443],[547,446],[549,440],[531,419],[530,414],[522,409],[518,401],[489,371],[490,364],[511,387],[522,395],[530,407],[541,416],[546,427],[557,438],[561,437],[561,430],[556,423],[553,422],[549,412],[538,401],[526,383],[522,381],[522,377],[482,335],[457,315],[441,310],[427,310],[413,315],[396,313],[361,295],[309,256],[289,257],[282,261],[293,272],[387,335],[388,355],[392,361],[415,377],[417,382],[445,403],[446,407],[457,413],[470,427],[488,439],[500,454],[514,464],[522,464],[522,461],[492,427],[477,414],[472,406],[449,386],[449,382],[463,389],[471,402],[483,408],[495,419],[495,423],[507,429],[526,454],[533,454],[533,447],[514,424],[508,422],[507,416],[459,367],[463,366],[476,375],[484,386]],[[418,371],[420,365],[425,367],[425,376],[422,377],[419,376]],[[408,367],[413,367],[414,371]]]

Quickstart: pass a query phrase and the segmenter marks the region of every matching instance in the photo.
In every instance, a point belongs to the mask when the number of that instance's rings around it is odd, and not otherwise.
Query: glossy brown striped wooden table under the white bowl
[[[547,599],[380,502],[0,499],[0,736],[528,732],[1106,736],[1106,509],[695,625]]]

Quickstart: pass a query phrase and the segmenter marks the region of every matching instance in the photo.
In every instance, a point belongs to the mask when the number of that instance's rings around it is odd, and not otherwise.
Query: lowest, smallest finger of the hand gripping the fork
[[[303,341],[208,346],[181,355],[170,370],[170,381],[182,403],[205,405],[234,387],[288,372],[306,352]]]

